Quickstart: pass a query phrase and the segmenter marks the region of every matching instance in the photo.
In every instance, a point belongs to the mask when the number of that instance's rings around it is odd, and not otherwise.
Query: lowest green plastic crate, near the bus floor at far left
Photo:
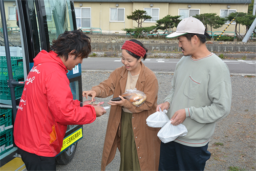
[[[0,133],[0,156],[13,148],[13,129]]]

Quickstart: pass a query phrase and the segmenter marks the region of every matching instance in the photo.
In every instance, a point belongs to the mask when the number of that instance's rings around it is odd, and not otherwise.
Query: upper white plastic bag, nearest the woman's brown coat
[[[170,119],[165,114],[166,110],[161,110],[159,107],[159,111],[151,114],[146,118],[146,124],[150,127],[163,127]]]

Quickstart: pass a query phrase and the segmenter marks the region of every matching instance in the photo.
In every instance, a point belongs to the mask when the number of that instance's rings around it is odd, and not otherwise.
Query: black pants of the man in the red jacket
[[[22,160],[28,171],[55,171],[55,157],[42,157],[33,153],[28,153],[18,147],[18,153],[22,156]]]

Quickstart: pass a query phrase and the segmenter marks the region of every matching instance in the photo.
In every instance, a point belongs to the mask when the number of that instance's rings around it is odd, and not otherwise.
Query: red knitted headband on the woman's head
[[[133,41],[130,40],[126,40],[122,46],[122,49],[125,49],[127,51],[130,51],[132,53],[134,53],[137,56],[142,56],[144,57],[144,55],[146,54],[146,51],[144,48],[142,48],[140,45],[136,44]]]

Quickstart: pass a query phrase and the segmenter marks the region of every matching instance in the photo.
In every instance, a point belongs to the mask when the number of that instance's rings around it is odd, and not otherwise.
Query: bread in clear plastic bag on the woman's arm
[[[139,107],[146,100],[145,93],[137,90],[136,88],[134,90],[126,90],[125,93],[123,93],[121,96],[125,97],[127,100],[129,100],[133,105],[137,107]]]

